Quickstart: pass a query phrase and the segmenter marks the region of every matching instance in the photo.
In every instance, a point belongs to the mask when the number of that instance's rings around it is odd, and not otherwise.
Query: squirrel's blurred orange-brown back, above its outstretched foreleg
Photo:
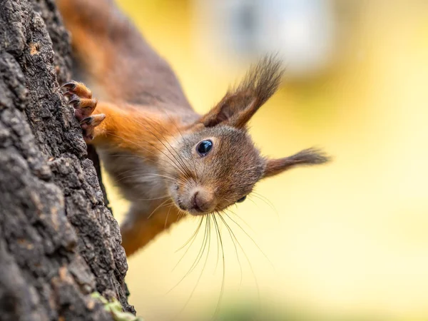
[[[168,63],[113,0],[56,0],[78,73],[111,102],[189,106]]]

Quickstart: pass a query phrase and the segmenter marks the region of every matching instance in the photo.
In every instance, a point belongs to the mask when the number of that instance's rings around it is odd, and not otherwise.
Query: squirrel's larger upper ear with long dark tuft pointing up
[[[239,86],[228,91],[200,122],[206,127],[219,123],[228,123],[237,128],[245,127],[258,108],[275,93],[282,74],[282,62],[275,56],[266,56],[250,68]]]

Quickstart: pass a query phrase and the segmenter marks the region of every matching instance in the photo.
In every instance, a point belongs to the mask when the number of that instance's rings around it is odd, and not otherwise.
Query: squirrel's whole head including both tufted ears
[[[263,58],[217,106],[170,141],[170,152],[177,153],[165,160],[170,165],[164,171],[173,178],[166,183],[178,208],[192,215],[219,212],[245,200],[263,178],[328,161],[312,148],[280,159],[265,158],[255,148],[248,121],[275,93],[282,73],[279,60]]]

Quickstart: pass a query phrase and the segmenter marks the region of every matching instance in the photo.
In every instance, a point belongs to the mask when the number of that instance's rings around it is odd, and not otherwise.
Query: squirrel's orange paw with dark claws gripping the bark
[[[83,83],[70,81],[69,83],[64,83],[61,88],[66,89],[63,96],[68,98],[68,105],[74,107],[74,114],[83,130],[83,138],[85,138],[86,142],[91,141],[93,139],[93,129],[102,123],[106,115],[103,113],[92,115],[96,108],[97,100],[92,98],[92,91]]]

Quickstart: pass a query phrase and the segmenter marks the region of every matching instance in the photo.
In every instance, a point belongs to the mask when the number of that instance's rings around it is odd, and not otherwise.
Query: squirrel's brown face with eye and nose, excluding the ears
[[[244,200],[265,170],[265,159],[248,133],[232,126],[183,133],[172,147],[183,166],[167,166],[165,175],[175,179],[168,180],[168,193],[180,210],[192,215]]]

